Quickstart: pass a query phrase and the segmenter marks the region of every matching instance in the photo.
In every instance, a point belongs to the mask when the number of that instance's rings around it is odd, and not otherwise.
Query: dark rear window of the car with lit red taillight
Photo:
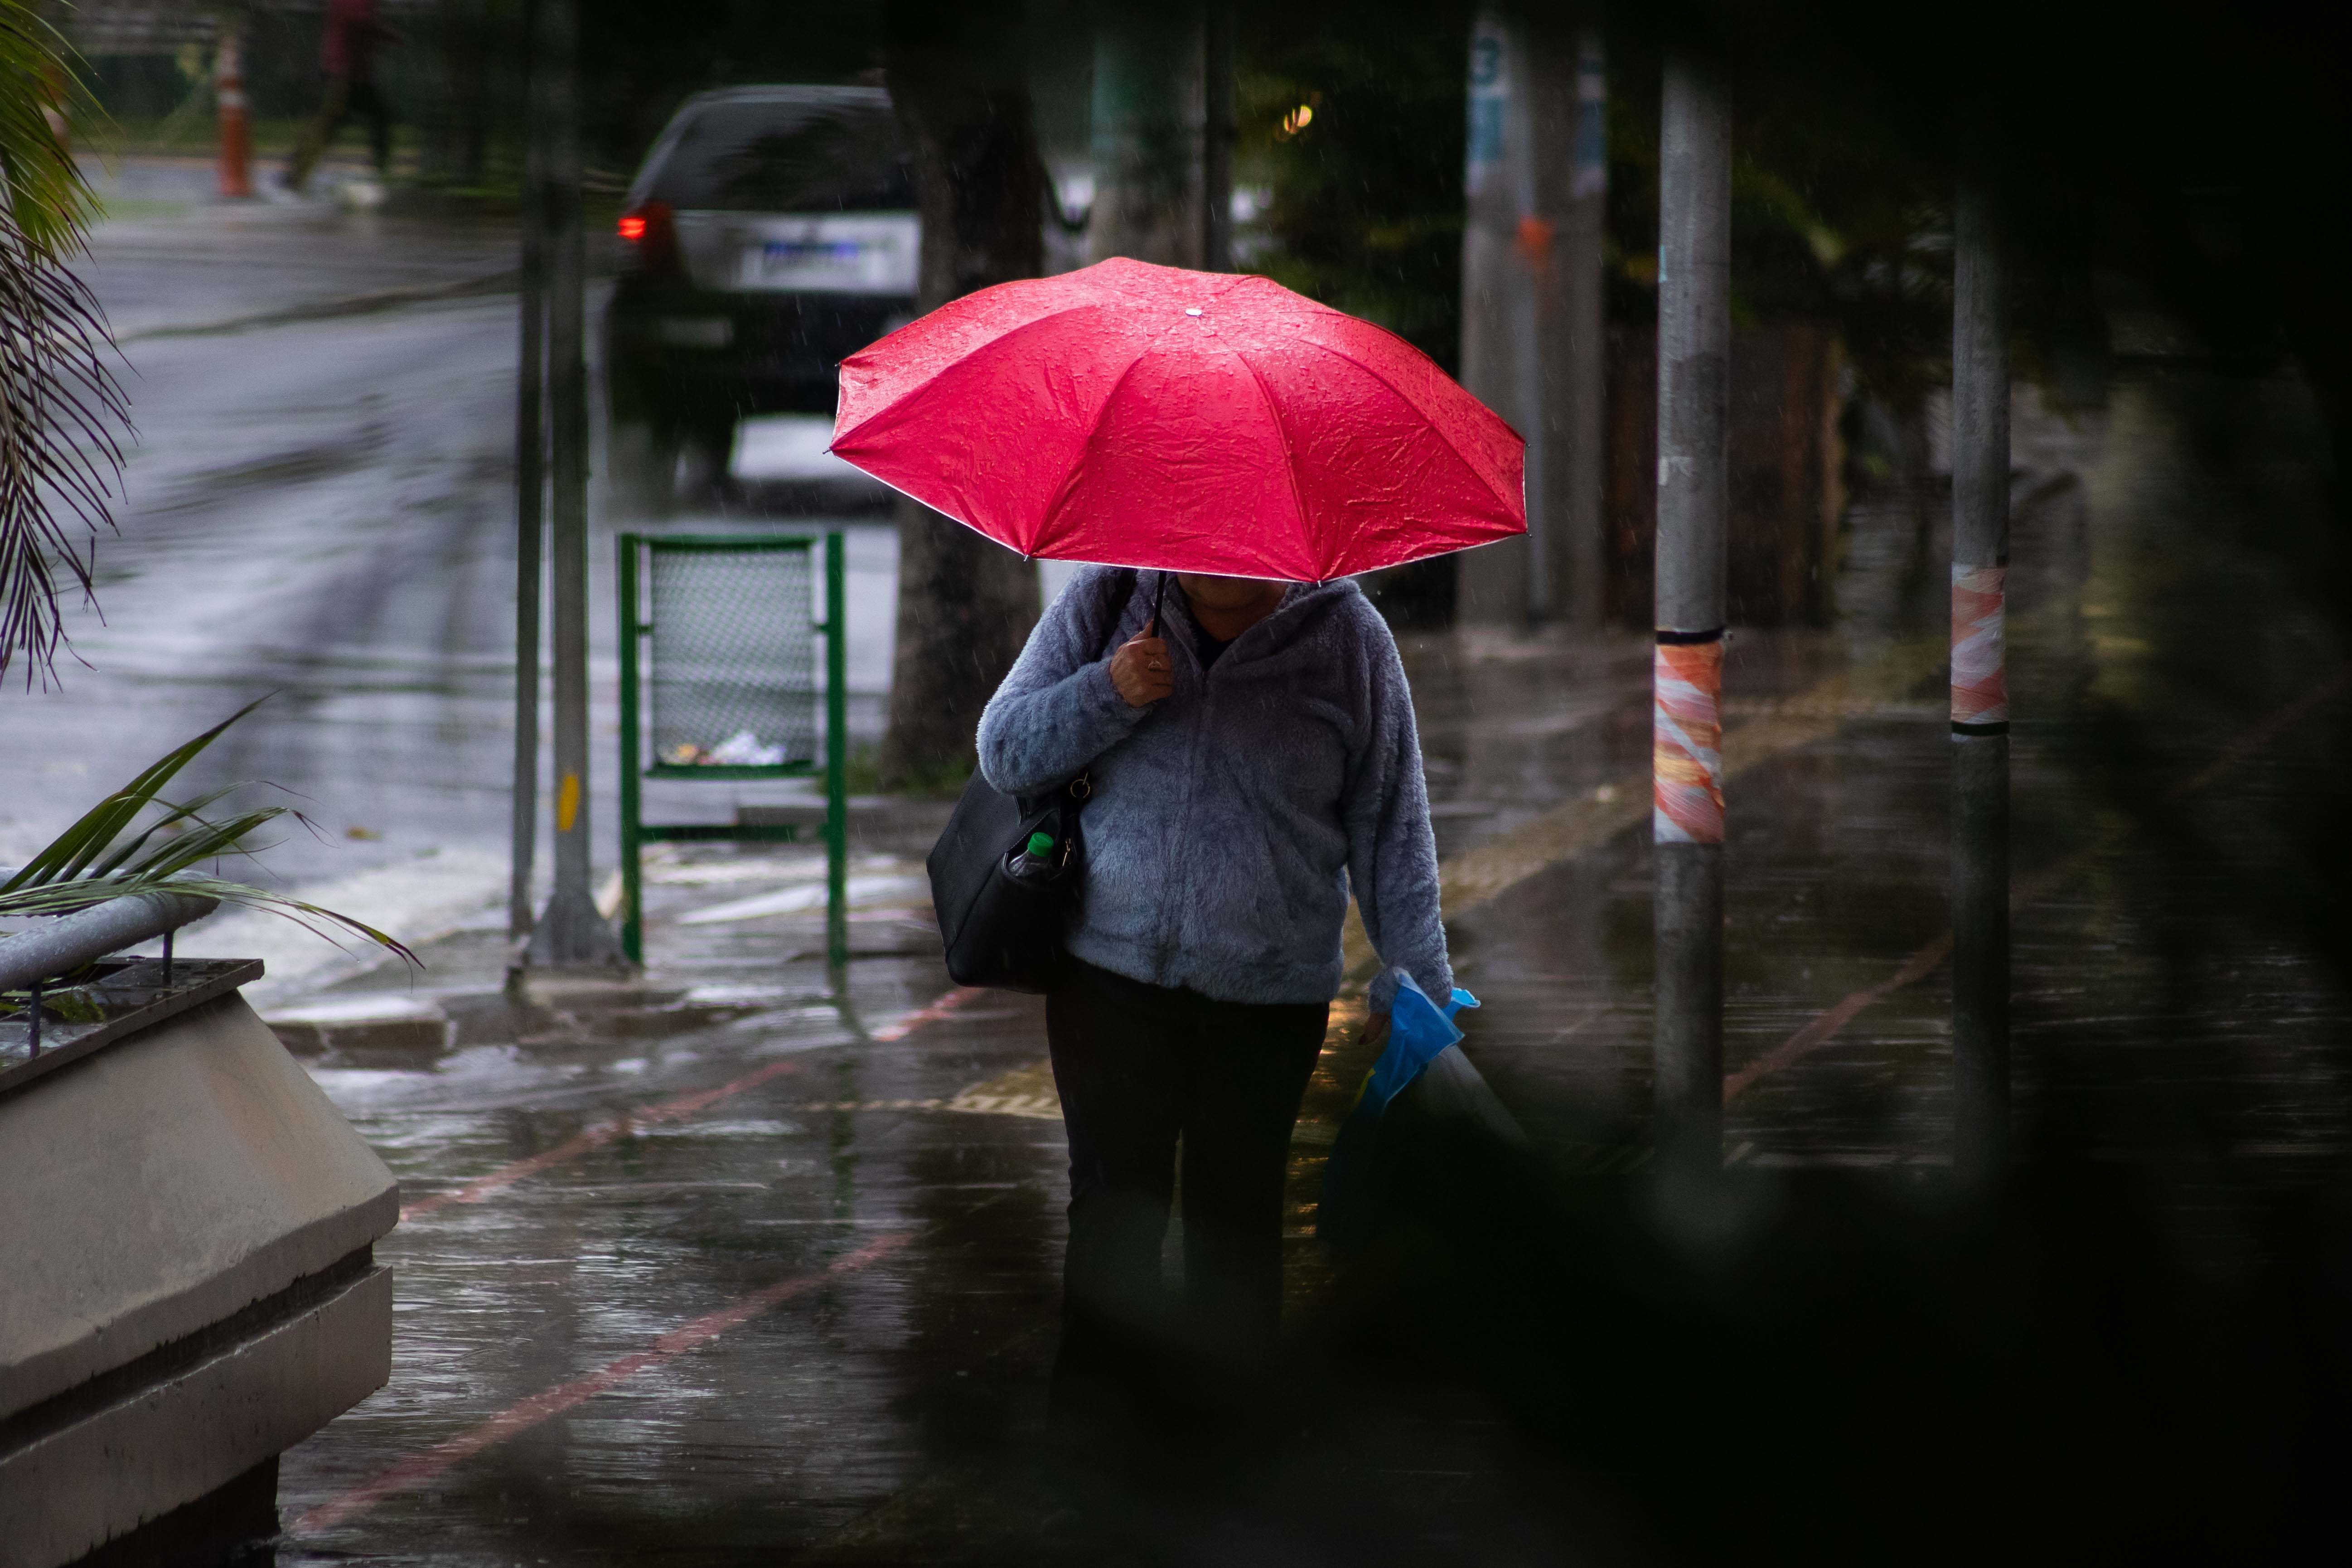
[[[906,212],[915,205],[889,108],[706,103],[644,193],[680,209]]]

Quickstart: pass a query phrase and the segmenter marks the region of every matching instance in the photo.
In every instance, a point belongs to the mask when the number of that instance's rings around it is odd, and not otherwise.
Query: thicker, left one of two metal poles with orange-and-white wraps
[[[1731,397],[1731,99],[1668,56],[1658,148],[1658,649],[1653,672],[1656,1143],[1724,1147],[1724,435]]]

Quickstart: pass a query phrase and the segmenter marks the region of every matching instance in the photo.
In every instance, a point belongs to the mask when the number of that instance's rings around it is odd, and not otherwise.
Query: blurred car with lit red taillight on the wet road
[[[668,498],[750,414],[833,414],[835,367],[915,315],[915,190],[880,87],[696,94],[644,155],[604,317],[614,463]]]

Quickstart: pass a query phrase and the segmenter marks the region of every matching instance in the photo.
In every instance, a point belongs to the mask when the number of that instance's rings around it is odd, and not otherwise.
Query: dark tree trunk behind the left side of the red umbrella
[[[1021,9],[1002,0],[891,12],[887,71],[915,148],[922,310],[1044,266],[1044,162],[1018,40]],[[882,788],[936,790],[971,771],[981,708],[1035,623],[1030,562],[901,496]]]

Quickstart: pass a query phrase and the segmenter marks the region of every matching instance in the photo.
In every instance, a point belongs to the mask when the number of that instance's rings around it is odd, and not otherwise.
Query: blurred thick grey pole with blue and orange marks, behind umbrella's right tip
[[[1573,16],[1479,12],[1463,386],[1526,437],[1526,538],[1461,557],[1456,609],[1468,625],[1599,625],[1604,92],[1599,38]]]

